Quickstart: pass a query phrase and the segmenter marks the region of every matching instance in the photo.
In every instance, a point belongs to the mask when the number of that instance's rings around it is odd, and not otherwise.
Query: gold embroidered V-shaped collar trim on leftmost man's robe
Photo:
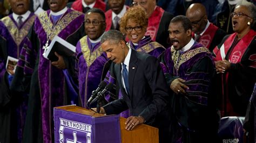
[[[12,39],[14,39],[17,47],[21,44],[23,39],[28,35],[33,22],[35,21],[36,15],[31,16],[28,20],[26,20],[25,24],[19,30],[18,27],[15,25],[14,21],[8,16],[2,19],[2,22],[8,29],[11,34]]]

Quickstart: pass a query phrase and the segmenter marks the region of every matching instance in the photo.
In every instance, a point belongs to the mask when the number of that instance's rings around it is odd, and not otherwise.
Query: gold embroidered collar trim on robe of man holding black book
[[[83,15],[83,13],[78,11],[70,11],[69,13],[64,13],[63,15],[65,16],[61,17],[55,26],[53,26],[46,11],[38,16],[38,19],[40,20],[45,33],[50,36],[50,40],[52,40],[56,35],[64,30],[64,28],[68,26],[74,19]]]

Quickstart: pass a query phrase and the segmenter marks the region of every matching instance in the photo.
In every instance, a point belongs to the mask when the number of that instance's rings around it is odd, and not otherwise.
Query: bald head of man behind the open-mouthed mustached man
[[[191,4],[187,9],[186,17],[190,19],[192,23],[192,31],[194,33],[200,34],[204,31],[208,19],[206,9],[203,4]]]

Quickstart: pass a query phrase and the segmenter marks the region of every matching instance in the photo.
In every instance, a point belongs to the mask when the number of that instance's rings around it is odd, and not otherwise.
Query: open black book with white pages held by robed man
[[[62,56],[71,56],[76,52],[76,47],[56,35],[45,52],[44,58],[51,61],[58,61],[55,52]]]

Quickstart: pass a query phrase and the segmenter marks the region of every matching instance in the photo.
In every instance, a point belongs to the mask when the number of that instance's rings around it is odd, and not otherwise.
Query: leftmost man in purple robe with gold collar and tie
[[[21,142],[28,95],[11,93],[17,62],[11,62],[8,56],[15,59],[22,56],[22,47],[30,44],[27,37],[36,16],[29,11],[28,0],[9,2],[13,13],[0,21],[0,142]]]

